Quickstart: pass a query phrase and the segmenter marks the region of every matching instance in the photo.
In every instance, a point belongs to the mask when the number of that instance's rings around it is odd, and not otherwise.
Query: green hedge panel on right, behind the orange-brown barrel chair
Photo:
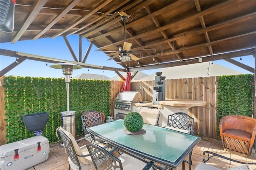
[[[219,122],[225,115],[254,114],[253,75],[229,75],[218,77],[217,136],[220,136]]]

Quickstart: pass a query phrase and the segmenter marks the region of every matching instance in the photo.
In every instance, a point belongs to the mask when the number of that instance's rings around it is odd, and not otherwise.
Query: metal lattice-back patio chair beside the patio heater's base
[[[81,115],[82,120],[82,129],[84,130],[84,137],[76,140],[77,142],[82,139],[87,139],[90,142],[94,142],[96,140],[103,142],[99,138],[95,138],[94,135],[90,134],[86,128],[94,127],[96,125],[101,125],[105,121],[105,115],[104,113],[100,111],[84,111]]]

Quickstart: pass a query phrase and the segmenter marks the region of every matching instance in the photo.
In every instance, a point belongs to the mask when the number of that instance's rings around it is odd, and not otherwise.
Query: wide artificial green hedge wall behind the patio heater
[[[22,116],[48,112],[42,136],[57,142],[55,130],[60,126],[60,112],[67,110],[65,79],[14,77],[4,78],[6,138],[8,143],[34,136],[26,129]],[[111,81],[71,79],[70,111],[76,111],[76,134],[82,134],[82,111],[97,110],[110,115]]]

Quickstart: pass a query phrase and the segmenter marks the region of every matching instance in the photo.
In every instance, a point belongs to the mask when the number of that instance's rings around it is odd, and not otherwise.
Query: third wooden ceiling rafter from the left
[[[106,0],[103,1],[103,3],[98,4],[97,7],[95,7],[92,11],[90,11],[88,14],[83,15],[81,18],[79,18],[78,20],[76,20],[73,24],[71,24],[70,26],[68,26],[67,28],[63,29],[61,32],[55,34],[54,36],[52,36],[51,38],[56,38],[62,34],[64,34],[65,32],[67,32],[68,30],[70,30],[71,28],[73,28],[74,26],[80,24],[81,22],[83,22],[84,20],[86,20],[87,18],[89,18],[92,14],[94,14],[95,12],[97,12],[98,10],[100,10],[101,8],[103,8],[104,6],[106,6],[107,4],[109,4],[112,0]]]

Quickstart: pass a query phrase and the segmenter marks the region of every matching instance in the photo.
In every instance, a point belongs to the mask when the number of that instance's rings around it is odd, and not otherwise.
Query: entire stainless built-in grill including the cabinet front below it
[[[142,101],[140,92],[123,91],[114,99],[114,118],[124,119],[124,117],[132,111],[132,103]]]

